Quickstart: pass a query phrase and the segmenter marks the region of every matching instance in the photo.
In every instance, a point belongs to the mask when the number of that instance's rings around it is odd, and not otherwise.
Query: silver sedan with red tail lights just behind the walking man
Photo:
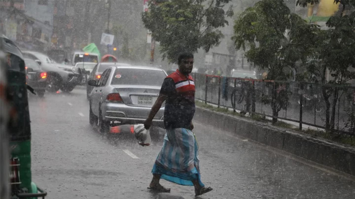
[[[90,80],[89,122],[98,124],[100,132],[110,126],[139,124],[147,118],[158,98],[166,72],[147,66],[110,66],[100,80]],[[164,127],[164,104],[155,115],[153,125]],[[117,122],[117,123],[115,123]]]

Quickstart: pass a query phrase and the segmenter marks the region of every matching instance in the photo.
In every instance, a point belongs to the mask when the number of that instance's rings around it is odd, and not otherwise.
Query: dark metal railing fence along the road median
[[[243,79],[194,73],[195,98],[233,108],[355,135],[355,87]],[[328,121],[328,122],[327,122]]]

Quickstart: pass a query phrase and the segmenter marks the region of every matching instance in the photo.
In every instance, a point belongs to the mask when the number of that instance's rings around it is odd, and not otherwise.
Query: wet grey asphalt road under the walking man
[[[170,194],[149,192],[163,134],[142,147],[133,134],[100,134],[89,125],[84,88],[30,95],[33,181],[46,199],[191,199],[193,187],[161,180]],[[267,146],[195,123],[202,181],[200,199],[353,199],[355,182]],[[161,131],[160,133],[163,133]]]

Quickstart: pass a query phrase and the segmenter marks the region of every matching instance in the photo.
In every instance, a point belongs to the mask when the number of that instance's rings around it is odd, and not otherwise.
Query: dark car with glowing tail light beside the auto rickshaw
[[[26,83],[35,89],[39,97],[43,97],[47,88],[47,72],[34,60],[25,59]]]

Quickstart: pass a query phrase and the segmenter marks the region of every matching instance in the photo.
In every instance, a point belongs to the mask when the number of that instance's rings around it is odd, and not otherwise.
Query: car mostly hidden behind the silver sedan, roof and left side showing
[[[96,82],[99,81],[101,75],[103,74],[103,72],[110,66],[131,66],[129,64],[125,64],[125,63],[110,63],[110,62],[101,62],[99,64],[97,64],[91,71],[89,77],[88,77],[88,82],[89,80],[95,80]],[[93,90],[93,86],[87,85],[86,86],[86,97],[87,99],[89,99],[89,95],[91,93],[91,91]]]

